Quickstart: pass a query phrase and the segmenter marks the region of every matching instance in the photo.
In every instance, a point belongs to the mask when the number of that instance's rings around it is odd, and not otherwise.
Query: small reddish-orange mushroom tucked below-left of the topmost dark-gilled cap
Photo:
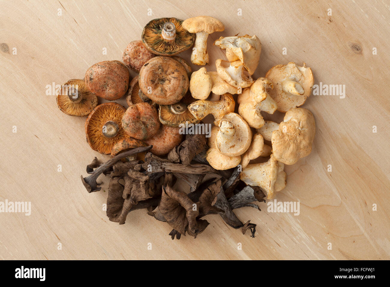
[[[154,56],[141,40],[131,41],[123,52],[123,62],[131,70],[139,73],[141,67]]]

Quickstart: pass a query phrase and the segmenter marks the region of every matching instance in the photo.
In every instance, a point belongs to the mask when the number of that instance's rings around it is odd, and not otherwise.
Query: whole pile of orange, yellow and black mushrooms
[[[178,55],[192,47],[191,63],[206,65],[207,37],[224,29],[210,16],[154,19],[140,40],[128,44],[123,63],[98,62],[83,80],[69,80],[58,91],[62,112],[87,116],[90,147],[111,156],[104,163],[95,157],[89,176],[81,176],[89,193],[101,189],[100,175],[108,176],[110,221],[123,224],[129,212],[147,209],[170,225],[172,239],[180,239],[197,237],[209,225],[203,217],[218,214],[255,237],[256,225],[233,210],[260,210],[253,202],[285,188],[284,165],[311,152],[315,121],[300,106],[314,78],[305,63],[277,65],[253,78],[262,48],[256,35],[216,40],[226,59],[216,60],[215,71],[192,71]],[[121,98],[127,108],[113,102]],[[281,123],[263,118],[276,111],[285,113]],[[207,115],[214,118],[208,137],[181,132],[182,125],[203,124]],[[188,192],[178,189],[183,183]]]

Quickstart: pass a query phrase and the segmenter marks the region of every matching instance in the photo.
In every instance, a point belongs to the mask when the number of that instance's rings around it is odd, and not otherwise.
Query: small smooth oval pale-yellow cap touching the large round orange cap
[[[191,75],[190,92],[194,99],[206,100],[211,93],[213,81],[206,68],[200,68]]]

